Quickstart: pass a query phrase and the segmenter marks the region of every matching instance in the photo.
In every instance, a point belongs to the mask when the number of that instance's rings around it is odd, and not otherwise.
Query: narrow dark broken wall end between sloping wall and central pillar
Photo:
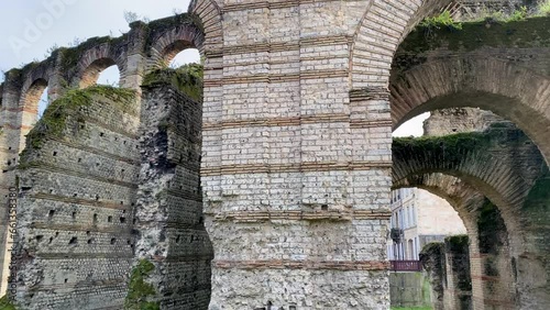
[[[158,85],[144,89],[142,107],[135,259],[154,264],[148,300],[161,309],[207,309],[213,253],[199,177],[201,104]]]

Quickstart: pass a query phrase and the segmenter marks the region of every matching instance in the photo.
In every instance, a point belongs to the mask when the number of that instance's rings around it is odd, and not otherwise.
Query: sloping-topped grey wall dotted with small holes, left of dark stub
[[[129,90],[73,92],[31,131],[13,259],[23,309],[120,309],[133,257],[139,114]],[[105,95],[101,92],[105,91]],[[89,100],[77,106],[82,96]]]

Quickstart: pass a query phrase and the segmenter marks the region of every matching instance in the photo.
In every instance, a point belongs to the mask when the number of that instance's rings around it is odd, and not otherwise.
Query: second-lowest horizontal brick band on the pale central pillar
[[[215,217],[215,221],[265,222],[271,220],[290,221],[353,221],[353,220],[387,220],[392,218],[389,210],[327,210],[327,211],[233,211]]]

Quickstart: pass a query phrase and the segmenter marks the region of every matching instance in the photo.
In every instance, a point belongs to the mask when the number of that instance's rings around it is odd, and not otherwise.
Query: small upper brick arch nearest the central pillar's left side
[[[152,67],[166,66],[176,57],[179,52],[187,48],[197,48],[204,54],[205,35],[195,25],[180,25],[167,30],[158,37],[154,38],[151,46]]]

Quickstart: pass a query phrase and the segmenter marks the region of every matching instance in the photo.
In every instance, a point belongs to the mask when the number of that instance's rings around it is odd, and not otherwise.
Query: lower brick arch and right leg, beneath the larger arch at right
[[[474,254],[471,255],[472,279],[474,287],[482,288],[481,291],[474,291],[474,303],[486,307],[493,307],[494,302],[514,305],[521,296],[529,296],[529,291],[526,289],[516,291],[510,288],[514,288],[516,283],[531,281],[528,274],[513,269],[514,259],[522,262],[522,255],[530,251],[525,246],[525,240],[534,235],[534,232],[525,226],[536,219],[525,214],[522,207],[540,176],[543,159],[540,154],[537,156],[538,150],[532,144],[525,144],[525,136],[514,134],[505,136],[527,147],[518,150],[506,147],[503,145],[506,142],[499,140],[490,147],[452,148],[444,142],[441,144],[443,139],[439,139],[436,140],[436,145],[440,147],[429,151],[418,145],[393,150],[394,188],[427,189],[446,198],[463,219],[473,241],[470,245],[470,251]],[[460,159],[446,160],[446,147],[459,154],[455,158]],[[529,160],[530,156],[538,158]],[[525,165],[520,166],[521,164]],[[496,213],[493,214],[496,214],[504,224],[499,232],[493,232],[492,225],[482,224],[487,220],[484,213],[485,197],[496,206]],[[482,246],[483,242],[486,243],[487,235],[495,239],[495,242],[496,239],[502,242],[503,245],[498,251],[487,252],[485,245]],[[487,266],[498,272],[494,274]]]

